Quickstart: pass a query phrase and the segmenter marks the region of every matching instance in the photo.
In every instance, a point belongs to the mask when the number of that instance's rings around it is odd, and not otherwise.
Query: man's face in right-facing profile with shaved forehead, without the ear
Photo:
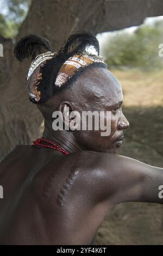
[[[78,144],[87,150],[116,153],[122,144],[123,130],[129,126],[122,113],[123,96],[120,83],[108,70],[93,68],[81,75],[78,86],[73,86],[73,89],[77,89],[76,102],[79,102],[77,110],[80,114],[82,111],[104,111],[102,119],[111,128],[109,136],[101,136],[103,131],[100,128],[75,131],[74,137]],[[108,118],[106,111],[110,112]]]

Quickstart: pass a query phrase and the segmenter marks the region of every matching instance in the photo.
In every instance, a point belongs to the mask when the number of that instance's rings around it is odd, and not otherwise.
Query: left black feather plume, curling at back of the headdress
[[[30,34],[21,38],[14,48],[15,57],[22,62],[25,59],[35,59],[43,50],[51,51],[51,43],[42,36]]]

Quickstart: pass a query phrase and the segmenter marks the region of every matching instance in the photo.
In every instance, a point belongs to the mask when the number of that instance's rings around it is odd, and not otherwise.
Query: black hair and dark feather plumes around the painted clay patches
[[[75,54],[82,56],[85,54],[85,48],[87,46],[94,46],[99,54],[99,42],[94,34],[87,31],[79,31],[72,34],[65,41],[64,47],[58,50],[57,56],[47,60],[46,64],[40,66],[40,72],[42,73],[42,80],[38,84],[38,90],[41,92],[41,99],[36,102],[30,98],[33,103],[43,103],[50,99],[55,93],[61,92],[61,90],[68,88],[80,74],[91,66],[101,66],[106,68],[104,63],[93,63],[86,68],[80,68],[76,71],[72,78],[61,87],[55,86],[55,80],[61,65]],[[26,59],[35,59],[37,54],[40,54],[43,50],[52,51],[50,42],[42,38],[39,35],[30,34],[21,38],[14,48],[15,57],[21,62]]]

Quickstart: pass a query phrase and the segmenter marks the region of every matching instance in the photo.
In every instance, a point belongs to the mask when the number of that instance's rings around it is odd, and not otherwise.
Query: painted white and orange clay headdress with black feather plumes
[[[42,48],[48,51],[36,55]],[[14,53],[20,61],[33,59],[27,72],[29,97],[33,103],[45,102],[55,90],[65,87],[80,69],[93,63],[101,63],[106,68],[103,57],[99,56],[96,36],[85,31],[71,35],[58,52],[52,52],[47,39],[28,35],[17,42]]]

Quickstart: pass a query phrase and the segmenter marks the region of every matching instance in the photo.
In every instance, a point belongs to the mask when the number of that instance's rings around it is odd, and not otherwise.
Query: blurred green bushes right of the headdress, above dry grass
[[[111,36],[104,56],[110,68],[162,68],[162,58],[158,56],[158,45],[163,43],[162,22],[154,26],[142,25],[134,33],[117,32]]]

